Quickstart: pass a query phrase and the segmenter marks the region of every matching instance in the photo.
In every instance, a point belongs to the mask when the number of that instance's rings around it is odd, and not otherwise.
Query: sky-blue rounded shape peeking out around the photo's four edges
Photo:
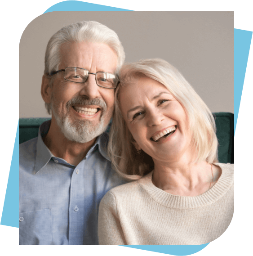
[[[132,11],[101,4],[68,0],[49,7],[44,13],[52,11]],[[235,128],[240,108],[240,100],[244,84],[249,49],[252,40],[252,31],[235,29]],[[18,228],[18,126],[14,142],[12,161],[10,165],[7,189],[0,225]],[[189,246],[125,246],[151,252],[160,252],[169,255],[186,256],[201,251],[209,245]]]

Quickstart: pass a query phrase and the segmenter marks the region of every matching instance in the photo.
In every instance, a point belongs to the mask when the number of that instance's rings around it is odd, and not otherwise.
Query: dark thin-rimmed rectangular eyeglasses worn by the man
[[[65,69],[51,72],[50,76],[58,72],[64,72],[65,80],[79,84],[84,83],[88,79],[89,74],[93,74],[96,76],[97,85],[107,89],[115,89],[120,82],[119,78],[113,74],[105,72],[94,74],[81,67],[66,67]]]

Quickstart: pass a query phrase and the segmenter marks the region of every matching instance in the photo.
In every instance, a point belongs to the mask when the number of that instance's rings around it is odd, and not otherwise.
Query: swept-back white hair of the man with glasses
[[[116,74],[124,63],[124,48],[115,31],[96,21],[75,22],[60,29],[48,42],[45,53],[44,75],[49,78],[49,86],[53,85],[55,77],[49,75],[53,71],[58,71],[60,64],[60,47],[62,44],[69,42],[93,42],[108,45],[118,56]],[[45,103],[45,107],[50,114],[51,105]]]

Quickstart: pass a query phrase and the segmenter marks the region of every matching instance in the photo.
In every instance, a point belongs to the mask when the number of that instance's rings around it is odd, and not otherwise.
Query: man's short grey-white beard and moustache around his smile
[[[80,121],[71,122],[70,115],[69,115],[69,108],[72,108],[71,104],[73,102],[77,104],[84,104],[84,105],[90,104],[90,105],[101,106],[100,111],[102,111],[102,114],[101,114],[101,119],[98,125],[94,126],[93,123],[89,120],[80,120]],[[109,124],[109,122],[105,124],[105,114],[107,111],[107,106],[106,106],[106,103],[103,102],[101,99],[87,100],[87,99],[81,99],[80,97],[77,99],[76,98],[72,99],[67,103],[67,106],[66,106],[67,114],[65,114],[64,116],[61,116],[61,114],[57,112],[57,108],[55,108],[54,101],[53,101],[53,95],[51,98],[51,103],[52,103],[52,113],[56,119],[56,122],[58,126],[61,128],[63,135],[70,141],[75,141],[78,143],[86,143],[98,137],[104,131],[107,130],[107,126]]]

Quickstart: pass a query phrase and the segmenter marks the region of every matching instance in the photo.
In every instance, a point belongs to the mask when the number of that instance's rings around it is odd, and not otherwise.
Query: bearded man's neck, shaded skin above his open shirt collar
[[[71,165],[77,166],[94,145],[97,138],[87,143],[70,141],[62,134],[61,129],[52,119],[49,132],[42,139],[55,157],[60,157]]]

